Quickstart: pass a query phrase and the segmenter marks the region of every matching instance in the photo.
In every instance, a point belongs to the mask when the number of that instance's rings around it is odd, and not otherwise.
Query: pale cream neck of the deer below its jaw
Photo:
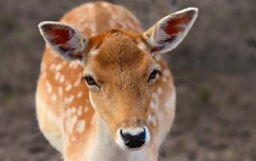
[[[94,116],[95,129],[94,134],[90,137],[90,150],[86,155],[86,160],[97,161],[135,161],[144,160],[145,150],[129,152],[121,149],[113,141],[113,138],[108,129],[108,125],[102,117],[95,112]]]

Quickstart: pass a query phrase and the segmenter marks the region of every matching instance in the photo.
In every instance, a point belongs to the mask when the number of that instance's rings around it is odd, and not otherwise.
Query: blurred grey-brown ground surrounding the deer
[[[44,41],[38,22],[85,0],[0,0],[0,159],[61,161],[39,132],[34,95]],[[177,87],[177,117],[160,161],[256,160],[256,1],[112,0],[147,29],[198,7],[195,26],[164,55]]]

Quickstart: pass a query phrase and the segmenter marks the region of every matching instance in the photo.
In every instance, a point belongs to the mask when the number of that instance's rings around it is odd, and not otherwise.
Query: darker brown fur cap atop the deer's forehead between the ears
[[[102,66],[132,66],[143,61],[145,53],[137,48],[143,39],[128,32],[112,30],[98,44],[96,61]]]

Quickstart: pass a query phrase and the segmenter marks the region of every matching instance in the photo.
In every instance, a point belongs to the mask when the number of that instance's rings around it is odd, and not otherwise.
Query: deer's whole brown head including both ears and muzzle
[[[170,14],[142,35],[111,30],[85,38],[72,26],[42,22],[46,43],[67,60],[84,67],[90,103],[124,149],[148,144],[146,125],[154,86],[161,74],[154,55],[174,49],[195,22],[197,9]]]

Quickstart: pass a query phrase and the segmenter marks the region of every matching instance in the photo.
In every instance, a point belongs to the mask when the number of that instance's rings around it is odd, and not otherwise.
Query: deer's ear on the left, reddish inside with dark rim
[[[44,21],[38,24],[44,40],[56,54],[66,60],[82,60],[87,41],[72,26],[61,22]]]

